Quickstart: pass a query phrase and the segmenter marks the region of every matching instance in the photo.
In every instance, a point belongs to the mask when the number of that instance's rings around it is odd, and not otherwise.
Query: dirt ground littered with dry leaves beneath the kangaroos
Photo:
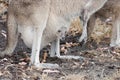
[[[100,22],[99,19],[97,21]],[[78,55],[81,59],[68,60],[48,56],[46,62],[59,64],[59,69],[29,67],[31,51],[19,40],[11,57],[0,58],[0,80],[120,80],[120,49],[109,47],[110,33],[97,36],[94,32],[92,40],[82,45],[78,43],[81,32],[81,29],[78,29],[79,21],[71,26],[65,41],[61,41],[61,54]],[[7,38],[6,23],[1,22],[0,28],[2,50]]]

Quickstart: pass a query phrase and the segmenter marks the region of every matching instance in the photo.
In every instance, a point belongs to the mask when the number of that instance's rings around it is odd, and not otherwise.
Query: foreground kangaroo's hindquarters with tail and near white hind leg
[[[39,62],[39,51],[42,34],[50,11],[50,0],[11,0],[8,6],[8,40],[7,46],[0,56],[11,55],[14,51],[18,35],[24,43],[32,48],[30,65],[40,68],[58,67],[56,64]]]

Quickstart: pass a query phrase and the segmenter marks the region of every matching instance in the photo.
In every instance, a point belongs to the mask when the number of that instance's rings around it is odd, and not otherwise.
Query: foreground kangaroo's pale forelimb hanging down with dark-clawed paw
[[[107,1],[108,0],[89,0],[88,3],[85,5],[82,15],[80,16],[80,19],[83,21],[83,31],[82,31],[82,35],[79,39],[79,42],[84,41],[84,43],[86,43],[88,21],[89,21],[90,17],[96,11],[101,9]]]

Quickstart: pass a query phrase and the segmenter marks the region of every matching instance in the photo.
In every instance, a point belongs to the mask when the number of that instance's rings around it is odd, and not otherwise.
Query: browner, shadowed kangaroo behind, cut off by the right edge
[[[108,0],[106,4],[98,10],[95,14],[93,14],[90,18],[90,23],[88,27],[88,37],[91,34],[91,31],[94,27],[95,23],[95,15],[99,15],[105,19],[112,17],[113,29],[112,36],[110,41],[111,47],[120,47],[120,1],[119,0]],[[106,11],[109,10],[109,11]]]

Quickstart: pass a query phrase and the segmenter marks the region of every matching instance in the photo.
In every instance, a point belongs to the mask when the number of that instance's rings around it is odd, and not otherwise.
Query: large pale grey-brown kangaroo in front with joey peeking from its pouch
[[[104,0],[100,1],[104,3]],[[58,67],[56,64],[40,63],[39,52],[48,42],[53,41],[53,47],[54,42],[59,46],[56,33],[62,30],[62,27],[68,30],[70,22],[81,15],[87,2],[88,0],[11,0],[8,6],[8,40],[0,56],[11,55],[18,35],[21,34],[24,43],[32,48],[31,65],[40,68]],[[97,9],[102,7],[101,5],[98,5]]]

